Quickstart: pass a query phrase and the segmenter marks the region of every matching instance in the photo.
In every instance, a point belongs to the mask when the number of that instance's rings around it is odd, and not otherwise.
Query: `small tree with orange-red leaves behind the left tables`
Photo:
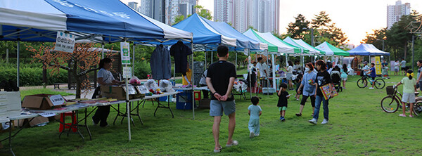
[[[95,51],[89,49],[93,45],[91,43],[75,44],[73,53],[53,51],[53,46],[44,44],[39,48],[27,46],[27,50],[34,53],[32,58],[42,63],[44,68],[52,69],[51,74],[58,74],[60,70],[68,70],[76,82],[76,98],[81,98],[81,89],[90,86],[89,80],[82,81],[82,77],[88,77],[89,72],[98,70],[96,65],[101,58],[99,49]],[[108,56],[113,55],[113,53],[108,53]]]

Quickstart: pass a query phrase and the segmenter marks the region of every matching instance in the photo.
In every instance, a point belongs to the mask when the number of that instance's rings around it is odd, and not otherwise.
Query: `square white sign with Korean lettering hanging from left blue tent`
[[[57,32],[55,51],[73,53],[75,47],[75,35],[65,32]]]

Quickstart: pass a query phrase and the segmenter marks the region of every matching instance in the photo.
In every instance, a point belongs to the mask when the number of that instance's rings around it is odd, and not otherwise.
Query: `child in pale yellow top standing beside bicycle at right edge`
[[[406,117],[406,103],[410,103],[410,115],[409,117],[413,117],[413,109],[415,100],[415,93],[416,92],[416,79],[414,79],[414,72],[412,70],[407,70],[406,77],[402,79],[398,84],[394,87],[403,84],[403,97],[402,97],[402,110],[403,114],[400,114],[400,117]]]

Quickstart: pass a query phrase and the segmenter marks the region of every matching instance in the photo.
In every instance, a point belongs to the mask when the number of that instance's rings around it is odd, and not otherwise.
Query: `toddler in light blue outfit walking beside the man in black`
[[[248,115],[249,118],[249,138],[253,138],[254,136],[260,135],[260,116],[262,114],[262,109],[258,105],[260,103],[260,98],[257,96],[253,96],[250,98],[250,102],[252,102],[252,105],[249,105],[248,107]]]

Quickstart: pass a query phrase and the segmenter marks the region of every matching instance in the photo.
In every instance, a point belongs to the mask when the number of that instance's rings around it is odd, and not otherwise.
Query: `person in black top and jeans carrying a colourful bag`
[[[316,74],[316,96],[315,96],[315,110],[314,110],[314,116],[309,122],[311,124],[316,124],[318,122],[319,117],[319,108],[321,107],[322,102],[322,108],[324,108],[324,121],[321,122],[321,124],[327,124],[328,123],[328,100],[324,98],[324,95],[319,88],[320,86],[324,86],[326,84],[330,84],[330,91],[333,90],[331,87],[331,84],[333,83],[331,81],[330,74],[327,72],[326,63],[324,63],[324,60],[317,60],[315,63],[316,69],[318,70],[318,73]],[[329,95],[329,97],[332,97],[332,94]]]

